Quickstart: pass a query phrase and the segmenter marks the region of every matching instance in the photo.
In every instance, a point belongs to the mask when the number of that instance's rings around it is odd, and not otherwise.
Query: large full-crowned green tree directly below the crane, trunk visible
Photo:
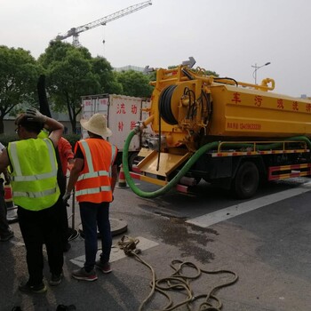
[[[92,75],[92,56],[87,49],[50,42],[38,61],[45,69],[46,89],[54,111],[68,112],[72,132],[81,111],[81,96],[97,91],[99,84]]]

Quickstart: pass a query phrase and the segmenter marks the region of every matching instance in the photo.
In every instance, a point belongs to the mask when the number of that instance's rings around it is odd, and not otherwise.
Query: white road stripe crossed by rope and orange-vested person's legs
[[[155,247],[158,245],[158,243],[150,241],[142,236],[138,236],[136,238],[140,240],[140,243],[137,244],[137,248],[140,249],[141,251],[146,251],[149,248]],[[96,255],[96,260],[100,259],[100,252],[101,251],[98,251]],[[123,259],[125,257],[127,256],[125,255],[124,251],[121,250],[119,247],[115,246],[115,247],[112,247],[111,249],[109,261],[114,262],[116,260]],[[84,267],[85,256],[84,255],[79,256],[79,257],[76,257],[75,259],[71,259],[70,261],[78,267]]]

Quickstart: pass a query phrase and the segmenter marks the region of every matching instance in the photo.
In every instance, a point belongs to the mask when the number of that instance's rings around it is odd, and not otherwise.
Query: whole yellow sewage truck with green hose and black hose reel
[[[311,100],[271,92],[275,81],[247,84],[207,76],[192,68],[156,69],[147,120],[130,132],[126,145],[146,126],[152,132],[140,151],[137,171],[124,176],[142,197],[163,195],[176,187],[187,192],[201,179],[249,198],[260,180],[311,175]],[[141,179],[160,187],[141,190]]]

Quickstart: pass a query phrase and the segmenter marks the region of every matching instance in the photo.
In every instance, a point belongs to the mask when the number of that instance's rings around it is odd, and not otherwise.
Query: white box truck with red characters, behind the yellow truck
[[[145,120],[150,108],[150,100],[140,97],[131,97],[116,94],[99,94],[88,95],[82,97],[82,112],[81,118],[89,119],[95,113],[103,114],[107,117],[108,128],[113,132],[113,135],[107,140],[116,145],[119,150],[118,164],[122,163],[122,152],[124,142],[129,133],[134,129],[135,124],[140,120]],[[147,132],[151,132],[147,128]],[[143,147],[145,132],[140,136],[135,135],[129,148],[129,166],[135,163],[136,157]],[[87,132],[82,129],[82,137],[87,137]]]

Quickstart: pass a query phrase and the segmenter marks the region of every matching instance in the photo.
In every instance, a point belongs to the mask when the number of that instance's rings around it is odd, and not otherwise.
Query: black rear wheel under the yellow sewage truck
[[[259,186],[259,171],[255,163],[244,162],[236,172],[232,190],[239,199],[255,195]]]

